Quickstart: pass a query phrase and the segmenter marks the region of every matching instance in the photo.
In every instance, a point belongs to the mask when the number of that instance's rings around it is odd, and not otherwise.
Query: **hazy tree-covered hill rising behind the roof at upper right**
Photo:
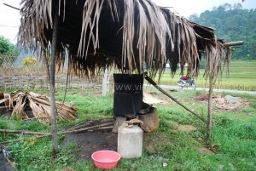
[[[216,29],[217,37],[225,42],[243,41],[244,44],[232,53],[232,59],[256,59],[256,9],[242,9],[240,3],[229,3],[207,10],[200,16],[193,14],[189,20]]]

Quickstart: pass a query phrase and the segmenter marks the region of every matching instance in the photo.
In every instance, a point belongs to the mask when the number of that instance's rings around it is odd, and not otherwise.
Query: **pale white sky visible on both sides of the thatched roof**
[[[191,14],[201,14],[205,10],[212,10],[224,3],[241,3],[244,9],[256,9],[255,0],[152,0],[162,7],[172,7],[170,10],[188,18]],[[20,8],[20,0],[0,0],[0,36],[9,38],[12,43],[16,43],[20,26],[20,12],[11,9],[3,3],[8,3],[16,8]]]

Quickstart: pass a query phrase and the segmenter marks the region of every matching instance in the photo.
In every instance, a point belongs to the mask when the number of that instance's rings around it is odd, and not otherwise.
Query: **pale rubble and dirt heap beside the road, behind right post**
[[[242,108],[249,105],[248,100],[242,100],[241,98],[236,102],[230,102],[225,97],[220,94],[213,94],[212,95],[212,103],[217,107],[218,110],[222,111],[240,111]],[[202,101],[207,103],[208,101],[208,94],[199,94],[195,96],[194,100]]]

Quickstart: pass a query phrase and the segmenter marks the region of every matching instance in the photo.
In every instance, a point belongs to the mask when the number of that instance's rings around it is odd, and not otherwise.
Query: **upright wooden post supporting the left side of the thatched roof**
[[[53,157],[57,157],[58,152],[58,136],[57,136],[57,122],[56,115],[57,109],[55,104],[55,55],[57,45],[57,33],[58,33],[58,21],[59,16],[57,10],[54,15],[53,33],[51,41],[51,56],[50,56],[50,68],[49,68],[49,96],[50,96],[50,113],[51,113],[51,134],[53,143]]]

